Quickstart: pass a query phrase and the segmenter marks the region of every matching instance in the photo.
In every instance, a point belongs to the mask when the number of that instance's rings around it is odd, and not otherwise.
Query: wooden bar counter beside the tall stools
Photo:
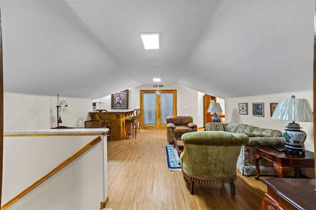
[[[125,139],[125,119],[132,116],[133,110],[110,110],[107,120],[111,120],[111,139]],[[95,112],[89,112],[91,119],[97,119]]]

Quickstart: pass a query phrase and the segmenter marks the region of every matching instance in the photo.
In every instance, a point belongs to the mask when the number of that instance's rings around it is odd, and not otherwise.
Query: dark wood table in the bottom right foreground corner
[[[315,210],[315,179],[263,179],[268,191],[262,200],[262,210]]]

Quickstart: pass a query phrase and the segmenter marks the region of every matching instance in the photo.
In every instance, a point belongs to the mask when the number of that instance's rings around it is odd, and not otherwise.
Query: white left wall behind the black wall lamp
[[[66,101],[70,113],[63,114],[63,123],[68,127],[84,127],[90,118],[92,100],[67,98],[59,95],[59,102]],[[19,93],[3,93],[3,130],[47,129],[57,126],[57,96],[41,96]],[[62,108],[64,105],[62,105]]]

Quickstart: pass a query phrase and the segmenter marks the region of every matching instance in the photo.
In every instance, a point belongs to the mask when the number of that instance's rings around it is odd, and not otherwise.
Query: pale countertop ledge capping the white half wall
[[[4,131],[3,135],[105,134],[109,131],[108,128],[34,129]]]

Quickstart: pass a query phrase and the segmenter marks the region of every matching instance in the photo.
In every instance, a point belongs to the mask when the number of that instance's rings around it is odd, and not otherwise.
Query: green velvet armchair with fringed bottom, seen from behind
[[[229,182],[235,195],[234,180],[241,145],[249,141],[245,134],[224,131],[204,131],[183,134],[184,151],[180,164],[184,177],[191,181],[190,194],[194,194],[194,182]]]

